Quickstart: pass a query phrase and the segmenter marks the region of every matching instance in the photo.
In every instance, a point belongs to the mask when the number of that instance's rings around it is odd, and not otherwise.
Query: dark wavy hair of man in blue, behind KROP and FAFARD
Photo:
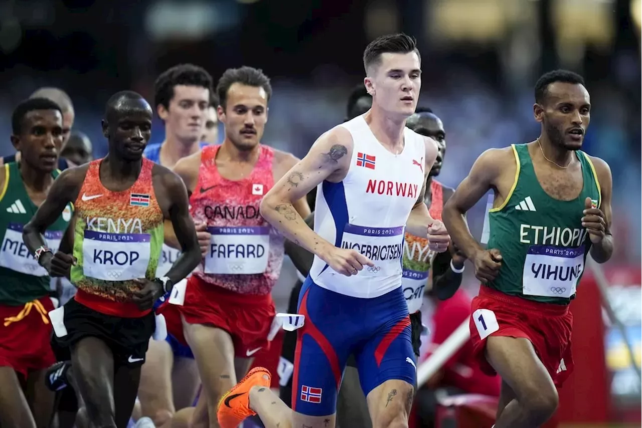
[[[154,82],[154,107],[169,108],[177,85],[200,86],[212,93],[212,76],[203,67],[194,64],[178,64],[164,71]]]

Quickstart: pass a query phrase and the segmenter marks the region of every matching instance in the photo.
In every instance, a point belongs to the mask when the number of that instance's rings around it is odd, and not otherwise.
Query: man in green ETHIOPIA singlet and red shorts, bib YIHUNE
[[[443,214],[483,283],[471,339],[482,370],[503,381],[496,428],[539,427],[555,412],[555,387],[573,371],[569,302],[587,255],[603,263],[613,250],[611,170],[580,151],[591,119],[584,79],[564,70],[544,74],[534,116],[541,135],[482,153]],[[490,189],[485,250],[464,214]]]

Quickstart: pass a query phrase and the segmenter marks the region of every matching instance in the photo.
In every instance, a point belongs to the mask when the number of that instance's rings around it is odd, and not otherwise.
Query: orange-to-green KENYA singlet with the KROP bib
[[[75,204],[75,298],[106,314],[141,316],[132,302],[141,288],[134,280],[155,278],[164,240],[164,217],[152,184],[154,163],[143,158],[134,185],[114,192],[100,181],[101,162],[90,162]]]

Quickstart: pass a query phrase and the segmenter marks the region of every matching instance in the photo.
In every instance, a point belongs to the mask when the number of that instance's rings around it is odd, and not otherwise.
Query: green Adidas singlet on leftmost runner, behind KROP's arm
[[[0,230],[4,230],[0,248],[0,304],[19,306],[48,295],[51,279],[22,241],[22,227],[38,207],[27,194],[18,164],[11,162],[0,171],[4,171],[4,188],[0,190]],[[54,171],[53,177],[58,173]],[[58,250],[72,215],[73,205],[69,203],[46,230],[44,237],[53,252]]]

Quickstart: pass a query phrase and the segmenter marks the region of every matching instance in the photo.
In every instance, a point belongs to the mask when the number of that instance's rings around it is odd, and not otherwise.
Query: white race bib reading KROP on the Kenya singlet
[[[150,262],[149,234],[108,234],[85,230],[83,274],[105,281],[144,278]]]

